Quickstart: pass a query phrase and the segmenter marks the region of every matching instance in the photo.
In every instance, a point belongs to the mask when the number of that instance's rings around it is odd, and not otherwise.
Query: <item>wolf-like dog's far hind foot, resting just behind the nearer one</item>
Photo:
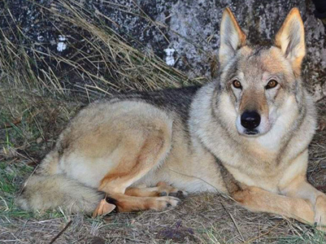
[[[166,182],[158,182],[156,187],[127,188],[125,195],[135,196],[135,197],[173,196],[177,198],[184,198],[187,195],[187,193],[185,191],[179,191],[177,188],[171,187]]]

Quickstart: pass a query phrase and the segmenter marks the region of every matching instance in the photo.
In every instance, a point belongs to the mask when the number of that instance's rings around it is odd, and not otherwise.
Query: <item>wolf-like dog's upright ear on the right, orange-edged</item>
[[[306,49],[304,23],[297,8],[291,9],[286,16],[276,34],[275,45],[281,48],[285,57],[290,61],[294,74],[300,75],[301,62],[306,54]]]

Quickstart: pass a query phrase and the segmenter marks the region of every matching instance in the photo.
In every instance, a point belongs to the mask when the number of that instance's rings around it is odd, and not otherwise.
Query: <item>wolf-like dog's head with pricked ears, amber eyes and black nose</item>
[[[231,117],[239,134],[265,134],[282,113],[298,113],[304,56],[304,25],[298,9],[290,11],[273,46],[247,45],[246,35],[230,9],[224,11],[219,51],[220,102],[222,106],[228,104],[223,110],[234,106]]]

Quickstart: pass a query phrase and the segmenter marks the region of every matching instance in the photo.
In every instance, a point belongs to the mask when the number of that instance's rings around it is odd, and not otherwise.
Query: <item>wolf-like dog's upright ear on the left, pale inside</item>
[[[242,32],[238,22],[229,8],[223,12],[221,21],[221,45],[219,60],[221,66],[225,66],[234,56],[235,51],[246,45],[246,35]]]

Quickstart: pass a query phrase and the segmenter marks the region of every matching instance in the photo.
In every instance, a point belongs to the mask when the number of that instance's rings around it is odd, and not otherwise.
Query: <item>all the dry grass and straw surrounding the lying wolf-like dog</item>
[[[323,234],[291,220],[253,214],[213,194],[188,197],[163,212],[112,214],[101,219],[69,215],[60,209],[32,214],[14,204],[20,185],[52,148],[60,130],[80,107],[97,98],[129,90],[178,87],[189,80],[153,53],[133,48],[99,11],[59,0],[39,6],[48,21],[60,22],[71,38],[66,56],[35,43],[13,25],[7,3],[0,26],[0,242],[50,243],[323,243]],[[32,4],[32,3],[31,3]],[[7,7],[6,7],[7,6]],[[123,6],[113,5],[121,11]],[[135,13],[134,13],[135,14]],[[150,25],[160,28],[143,15]],[[141,45],[141,44],[137,44]],[[320,121],[326,121],[318,103]],[[309,180],[325,191],[326,130],[311,144]]]

